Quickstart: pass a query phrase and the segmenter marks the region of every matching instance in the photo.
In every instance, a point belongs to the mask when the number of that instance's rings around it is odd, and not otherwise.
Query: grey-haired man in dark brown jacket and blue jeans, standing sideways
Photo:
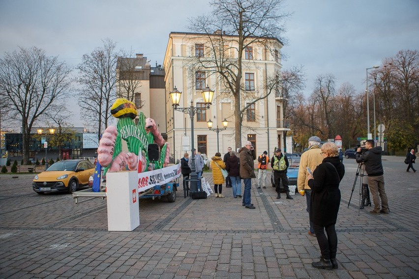
[[[240,177],[244,183],[243,203],[242,205],[249,209],[255,209],[251,203],[252,178],[256,178],[254,170],[254,160],[256,160],[255,149],[250,141],[239,149]]]

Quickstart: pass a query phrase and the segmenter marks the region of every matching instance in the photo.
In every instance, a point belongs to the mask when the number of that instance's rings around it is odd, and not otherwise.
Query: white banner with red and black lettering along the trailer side
[[[138,192],[163,185],[178,177],[180,177],[180,164],[141,172],[138,174]]]

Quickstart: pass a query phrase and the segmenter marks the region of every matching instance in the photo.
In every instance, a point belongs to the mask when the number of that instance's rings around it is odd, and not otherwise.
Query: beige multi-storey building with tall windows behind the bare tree
[[[220,33],[214,33],[218,36]],[[231,40],[229,40],[229,38]],[[235,46],[235,36],[223,36],[223,44],[228,52],[228,59],[237,63],[238,53]],[[209,110],[197,112],[194,116],[194,147],[198,152],[205,153],[209,158],[219,151],[223,155],[230,146],[241,147],[246,140],[250,140],[256,147],[256,153],[268,151],[272,155],[275,147],[284,147],[284,135],[290,129],[283,119],[282,98],[279,90],[274,89],[267,98],[257,101],[243,113],[241,143],[235,146],[234,99],[225,83],[216,73],[208,71],[211,63],[211,51],[208,36],[205,34],[171,32],[163,62],[165,71],[166,95],[176,87],[182,92],[179,107],[203,107],[202,90],[208,85],[214,91],[212,105]],[[268,84],[273,79],[279,79],[281,70],[280,49],[282,44],[276,39],[269,39],[268,46],[255,43],[246,48],[242,55],[242,96],[240,108],[260,96],[268,93]],[[203,66],[202,61],[207,60]],[[191,136],[191,120],[189,114],[175,111],[172,101],[166,98],[167,140],[172,146],[171,152],[176,159],[180,159],[187,147],[182,148],[182,137]],[[210,131],[207,121],[213,122],[212,128],[222,128],[222,121],[228,120],[228,128],[217,134]],[[218,141],[217,141],[218,136]],[[184,138],[185,139],[185,138]],[[187,138],[186,138],[187,139]],[[218,144],[217,144],[218,143]],[[185,142],[183,142],[184,145]],[[174,146],[174,148],[173,148]],[[190,146],[190,145],[189,145]]]

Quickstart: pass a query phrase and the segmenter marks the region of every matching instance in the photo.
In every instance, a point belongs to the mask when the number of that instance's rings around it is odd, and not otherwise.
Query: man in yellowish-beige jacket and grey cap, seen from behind
[[[319,166],[323,161],[322,150],[320,149],[320,138],[313,136],[308,139],[308,150],[301,154],[301,159],[299,162],[298,170],[298,190],[305,190],[305,199],[307,202],[307,212],[310,216],[310,200],[311,200],[311,189],[308,187],[308,178],[307,178],[307,167],[310,168],[311,173],[314,169]],[[313,222],[310,220],[310,230],[309,235],[314,234]]]

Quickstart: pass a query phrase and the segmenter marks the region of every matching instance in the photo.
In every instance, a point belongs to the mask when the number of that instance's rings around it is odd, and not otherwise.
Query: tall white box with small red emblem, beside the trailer
[[[140,225],[136,171],[106,173],[108,231],[132,231]]]

